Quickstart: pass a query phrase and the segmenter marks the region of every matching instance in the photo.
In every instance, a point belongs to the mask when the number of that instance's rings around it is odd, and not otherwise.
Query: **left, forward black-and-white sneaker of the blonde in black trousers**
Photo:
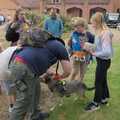
[[[86,108],[85,108],[85,111],[87,112],[92,112],[92,111],[96,111],[100,109],[100,105],[94,101],[92,101],[91,103],[89,103]]]

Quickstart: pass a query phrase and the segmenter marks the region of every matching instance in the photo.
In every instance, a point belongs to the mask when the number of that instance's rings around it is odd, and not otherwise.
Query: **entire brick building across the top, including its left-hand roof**
[[[18,6],[34,9],[40,13],[45,9],[55,8],[62,15],[84,16],[89,20],[95,11],[120,11],[120,0],[0,0],[2,10],[10,11]]]

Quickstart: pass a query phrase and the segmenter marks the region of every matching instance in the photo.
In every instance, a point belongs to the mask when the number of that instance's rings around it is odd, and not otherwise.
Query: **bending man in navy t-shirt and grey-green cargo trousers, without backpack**
[[[35,36],[32,38],[35,39]],[[10,120],[23,120],[27,112],[31,113],[30,120],[44,120],[44,116],[37,109],[40,95],[38,78],[57,60],[60,60],[63,69],[61,77],[68,77],[71,72],[68,53],[64,45],[57,40],[49,40],[43,47],[23,47],[14,57],[10,70],[13,86],[16,88],[16,102]]]

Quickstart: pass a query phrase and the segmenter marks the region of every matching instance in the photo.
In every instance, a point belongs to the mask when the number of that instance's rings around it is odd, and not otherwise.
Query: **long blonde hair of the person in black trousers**
[[[101,30],[106,30],[108,29],[106,23],[105,23],[105,18],[103,13],[101,12],[96,12],[95,14],[93,14],[93,16],[91,17],[91,22],[95,22],[97,25],[97,30],[101,29]]]

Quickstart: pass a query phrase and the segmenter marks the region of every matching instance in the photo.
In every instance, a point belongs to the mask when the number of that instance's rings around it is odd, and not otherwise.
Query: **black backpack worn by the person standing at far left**
[[[20,34],[16,32],[15,28],[11,28],[12,23],[9,24],[8,29],[5,34],[7,41],[16,42],[19,40]]]

